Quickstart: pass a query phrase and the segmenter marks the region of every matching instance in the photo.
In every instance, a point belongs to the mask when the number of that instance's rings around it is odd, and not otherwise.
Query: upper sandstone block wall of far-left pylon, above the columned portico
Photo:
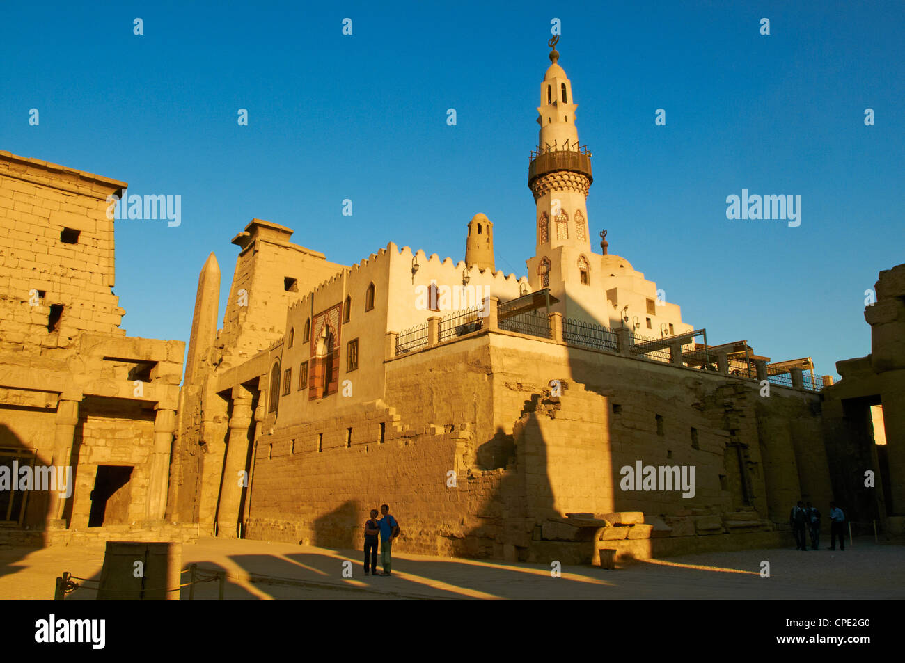
[[[67,347],[80,331],[125,336],[106,215],[107,196],[125,186],[0,152],[0,349]],[[75,243],[64,229],[78,231]],[[63,307],[55,331],[52,305]]]

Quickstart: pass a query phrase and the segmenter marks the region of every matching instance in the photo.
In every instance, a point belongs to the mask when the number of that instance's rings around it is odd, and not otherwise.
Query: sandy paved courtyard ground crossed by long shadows
[[[42,549],[0,545],[0,600],[50,600],[54,579],[64,571],[96,580],[103,555],[103,544]],[[343,577],[347,560],[352,563],[351,578]],[[770,564],[769,578],[760,577],[762,561]],[[905,599],[905,545],[876,545],[867,538],[844,552],[801,554],[790,546],[693,554],[624,564],[612,571],[563,566],[561,577],[552,577],[549,565],[415,554],[394,555],[392,577],[368,577],[357,551],[214,538],[183,546],[183,567],[192,563],[228,574],[226,600]],[[195,600],[217,596],[216,582],[195,586]],[[94,597],[94,591],[80,588],[67,601]],[[181,598],[188,599],[187,588]]]

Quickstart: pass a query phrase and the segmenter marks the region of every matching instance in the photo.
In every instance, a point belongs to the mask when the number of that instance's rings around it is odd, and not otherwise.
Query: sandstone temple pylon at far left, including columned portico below
[[[186,344],[119,328],[107,211],[125,187],[0,152],[0,525],[163,522]]]

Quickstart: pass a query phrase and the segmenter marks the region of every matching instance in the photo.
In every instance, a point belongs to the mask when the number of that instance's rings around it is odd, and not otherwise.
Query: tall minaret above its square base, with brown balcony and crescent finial
[[[558,37],[550,40],[551,48]],[[528,185],[537,205],[537,254],[559,246],[590,252],[586,198],[591,186],[591,155],[578,144],[572,83],[550,52],[550,64],[540,84],[538,147],[531,153]]]

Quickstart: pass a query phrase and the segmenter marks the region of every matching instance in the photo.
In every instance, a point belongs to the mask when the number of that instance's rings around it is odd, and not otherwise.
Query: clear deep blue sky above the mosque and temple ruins
[[[391,241],[462,260],[482,212],[498,269],[522,275],[554,18],[594,154],[592,238],[608,229],[711,345],[821,374],[870,352],[864,291],[905,262],[900,0],[3,2],[0,149],[182,196],[179,227],[117,223],[130,336],[187,341],[210,251],[222,320],[253,217],[351,264]],[[801,225],[730,221],[743,188],[800,194]]]

